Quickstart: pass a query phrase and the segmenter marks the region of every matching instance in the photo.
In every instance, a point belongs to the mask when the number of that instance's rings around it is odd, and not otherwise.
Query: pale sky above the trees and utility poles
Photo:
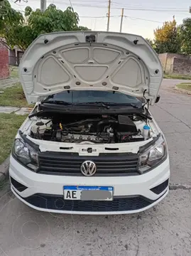
[[[9,0],[14,9],[22,10],[26,6],[32,9],[40,8],[40,0],[21,0],[21,3],[13,3]],[[80,16],[80,25],[87,26],[92,31],[107,30],[108,0],[47,0],[47,6],[55,4],[63,11],[67,6],[72,5],[73,9]],[[111,0],[111,18],[109,31],[118,32],[121,21],[121,9],[124,8],[124,20],[122,32],[141,35],[144,38],[153,39],[153,30],[162,26],[164,21],[172,21],[173,16],[178,24],[182,19],[191,17],[189,14],[190,0]],[[130,10],[133,9],[133,10]],[[141,10],[140,10],[141,9]],[[152,9],[153,11],[148,11]]]

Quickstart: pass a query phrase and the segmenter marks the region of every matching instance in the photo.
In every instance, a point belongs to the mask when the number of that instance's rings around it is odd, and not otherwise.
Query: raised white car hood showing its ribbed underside
[[[19,65],[28,103],[64,90],[113,90],[158,95],[163,69],[141,37],[126,33],[72,31],[38,36]]]

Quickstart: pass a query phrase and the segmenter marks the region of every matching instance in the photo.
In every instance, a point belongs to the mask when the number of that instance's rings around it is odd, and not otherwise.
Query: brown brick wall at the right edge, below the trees
[[[174,58],[173,73],[180,75],[191,75],[191,60],[184,58]]]

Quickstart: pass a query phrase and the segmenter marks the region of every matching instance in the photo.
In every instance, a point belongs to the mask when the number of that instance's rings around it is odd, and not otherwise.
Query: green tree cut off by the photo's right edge
[[[191,18],[185,18],[180,26],[181,50],[184,54],[191,54]]]

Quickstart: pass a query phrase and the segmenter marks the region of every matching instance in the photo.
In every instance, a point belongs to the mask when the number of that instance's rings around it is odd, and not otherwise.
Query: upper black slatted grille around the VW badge
[[[77,153],[43,152],[39,155],[40,174],[83,176],[80,166],[91,160],[97,166],[94,176],[138,175],[138,155],[131,153],[99,154],[99,156],[79,156]]]

